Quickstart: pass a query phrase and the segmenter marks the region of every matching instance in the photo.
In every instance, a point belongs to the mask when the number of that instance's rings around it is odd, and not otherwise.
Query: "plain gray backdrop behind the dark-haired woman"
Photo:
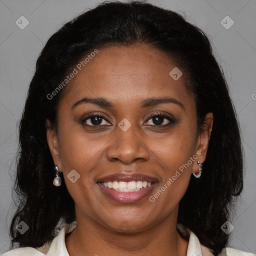
[[[15,207],[11,188],[15,171],[17,122],[24,106],[36,58],[62,24],[101,1],[0,0],[0,254],[9,250],[8,228]],[[245,179],[228,246],[256,252],[256,2],[255,0],[157,0],[179,13],[210,38],[230,86],[245,151]],[[15,21],[25,16],[20,29]],[[228,15],[234,24],[220,21]],[[229,21],[227,24],[230,24]],[[254,98],[254,99],[253,99]],[[217,160],[217,159],[216,159]],[[222,170],[216,170],[222,171]]]

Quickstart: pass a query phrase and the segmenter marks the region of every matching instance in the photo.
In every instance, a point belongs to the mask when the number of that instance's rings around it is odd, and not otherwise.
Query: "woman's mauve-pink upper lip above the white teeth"
[[[108,181],[147,181],[150,183],[157,182],[157,179],[141,173],[115,173],[108,176],[99,178],[97,182],[108,182]]]

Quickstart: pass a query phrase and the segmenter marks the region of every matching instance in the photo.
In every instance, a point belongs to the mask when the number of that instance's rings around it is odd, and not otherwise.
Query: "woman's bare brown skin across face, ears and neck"
[[[58,105],[57,131],[47,120],[52,158],[75,202],[77,227],[65,237],[70,256],[186,255],[188,239],[176,229],[178,203],[191,173],[198,171],[197,160],[205,160],[213,116],[206,115],[204,129],[197,134],[195,102],[184,75],[178,80],[169,75],[175,66],[164,53],[144,44],[100,48],[67,85]],[[85,96],[104,97],[114,106],[83,102],[72,108]],[[140,106],[146,98],[166,96],[183,107],[176,103]],[[92,126],[95,118],[81,124],[92,112],[105,118],[99,124],[102,128]],[[158,112],[176,121],[164,127],[170,123],[164,117],[157,124],[149,114]],[[131,123],[125,132],[118,126],[123,118]],[[150,202],[148,197],[196,152],[200,156]],[[74,183],[67,178],[72,169],[80,174]],[[96,181],[118,172],[143,173],[156,177],[158,183],[138,202],[117,203]]]

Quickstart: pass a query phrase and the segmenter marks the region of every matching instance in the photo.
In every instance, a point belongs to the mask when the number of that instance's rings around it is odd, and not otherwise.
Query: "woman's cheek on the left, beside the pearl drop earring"
[[[84,131],[75,130],[68,123],[62,123],[58,133],[61,166],[67,190],[76,204],[83,205],[89,212],[91,208],[86,205],[92,205],[95,198],[92,189],[95,182],[90,172],[102,157],[104,142],[102,139],[90,139]],[[69,179],[70,173],[75,176],[74,182]]]

